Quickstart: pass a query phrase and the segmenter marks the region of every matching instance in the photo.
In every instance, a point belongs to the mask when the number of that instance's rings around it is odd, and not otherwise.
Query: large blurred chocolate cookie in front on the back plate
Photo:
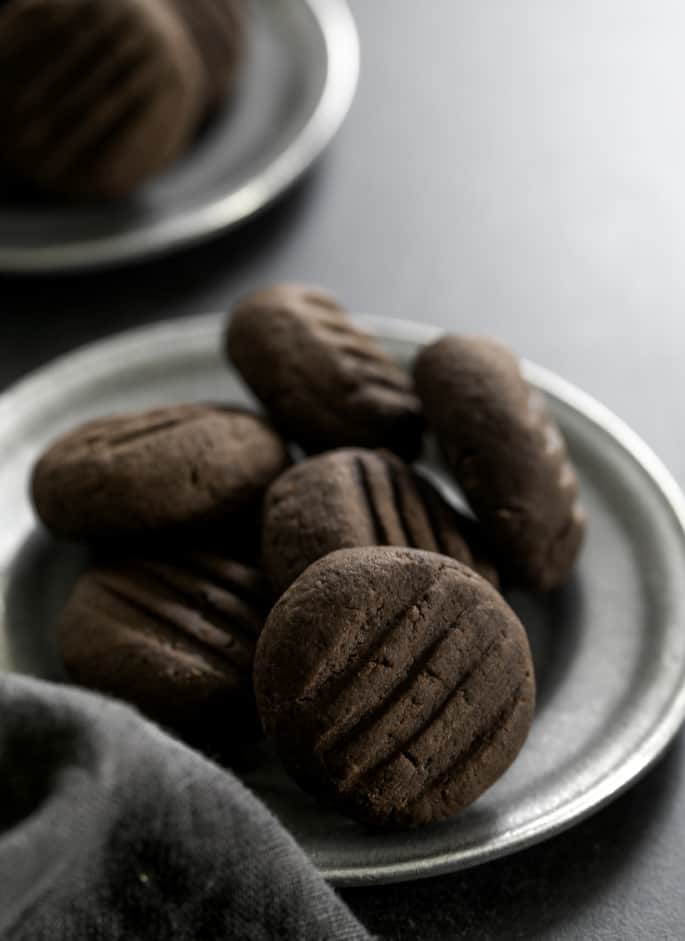
[[[206,94],[195,44],[166,2],[0,6],[0,162],[47,190],[129,193],[185,148]]]

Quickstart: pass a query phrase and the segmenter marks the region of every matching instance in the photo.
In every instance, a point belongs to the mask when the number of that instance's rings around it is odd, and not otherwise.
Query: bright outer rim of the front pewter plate
[[[431,342],[444,331],[408,321],[380,317],[358,317],[358,322],[380,339],[416,347]],[[54,397],[55,390],[68,402],[69,395],[78,391],[80,382],[89,377],[106,375],[123,364],[143,363],[155,353],[163,357],[164,351],[179,348],[201,349],[211,339],[216,343],[221,315],[206,315],[184,320],[162,322],[106,339],[67,354],[37,370],[0,396],[0,435],[12,428],[21,428],[22,415],[26,415]],[[595,426],[624,453],[644,474],[654,495],[668,514],[669,525],[680,545],[685,559],[685,496],[680,487],[652,449],[605,406],[587,393],[556,374],[536,364],[524,364],[528,379],[544,393],[571,409],[583,422]],[[19,534],[19,537],[25,535]],[[18,537],[18,538],[19,538]],[[10,561],[0,559],[0,569]],[[5,569],[6,570],[6,569]],[[1,577],[1,576],[0,576]],[[0,605],[6,596],[6,579],[0,583]],[[677,594],[674,625],[685,621],[685,596]],[[673,629],[676,629],[675,626]],[[2,652],[2,624],[0,623],[0,654]],[[2,656],[0,655],[0,668]],[[514,829],[495,832],[484,842],[461,847],[454,852],[435,853],[428,857],[378,865],[334,865],[321,867],[322,875],[339,886],[359,886],[398,882],[435,876],[484,863],[499,856],[521,850],[568,829],[589,814],[613,800],[633,784],[660,757],[685,720],[685,661],[681,658],[672,665],[672,696],[667,705],[650,717],[648,732],[637,747],[623,753],[608,773],[587,790],[571,800],[545,812],[541,817],[524,822]],[[657,680],[658,681],[658,675]],[[670,689],[669,689],[670,695]],[[411,834],[407,836],[411,840]],[[305,849],[307,849],[305,845]]]

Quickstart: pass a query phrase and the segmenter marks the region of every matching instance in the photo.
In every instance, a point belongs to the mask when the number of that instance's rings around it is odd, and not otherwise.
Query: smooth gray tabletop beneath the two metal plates
[[[0,384],[104,334],[225,309],[262,281],[313,280],[355,310],[502,337],[606,402],[685,484],[685,9],[352,7],[359,96],[309,179],[171,261],[2,280]],[[681,738],[561,837],[345,897],[387,938],[682,938],[684,771]]]

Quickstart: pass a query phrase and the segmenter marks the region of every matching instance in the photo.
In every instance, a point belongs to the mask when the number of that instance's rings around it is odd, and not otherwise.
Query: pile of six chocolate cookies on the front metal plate
[[[265,732],[366,824],[444,819],[530,728],[500,588],[571,572],[585,521],[561,434],[500,344],[445,337],[412,377],[305,287],[244,299],[226,349],[266,418],[103,418],[35,467],[45,525],[97,557],[59,624],[67,671],[200,747]],[[467,510],[412,464],[427,430]]]

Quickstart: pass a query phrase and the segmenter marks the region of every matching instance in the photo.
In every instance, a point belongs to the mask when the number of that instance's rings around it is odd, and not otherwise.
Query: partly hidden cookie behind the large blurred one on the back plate
[[[170,0],[200,53],[205,69],[207,104],[226,97],[236,79],[245,42],[245,0]]]

